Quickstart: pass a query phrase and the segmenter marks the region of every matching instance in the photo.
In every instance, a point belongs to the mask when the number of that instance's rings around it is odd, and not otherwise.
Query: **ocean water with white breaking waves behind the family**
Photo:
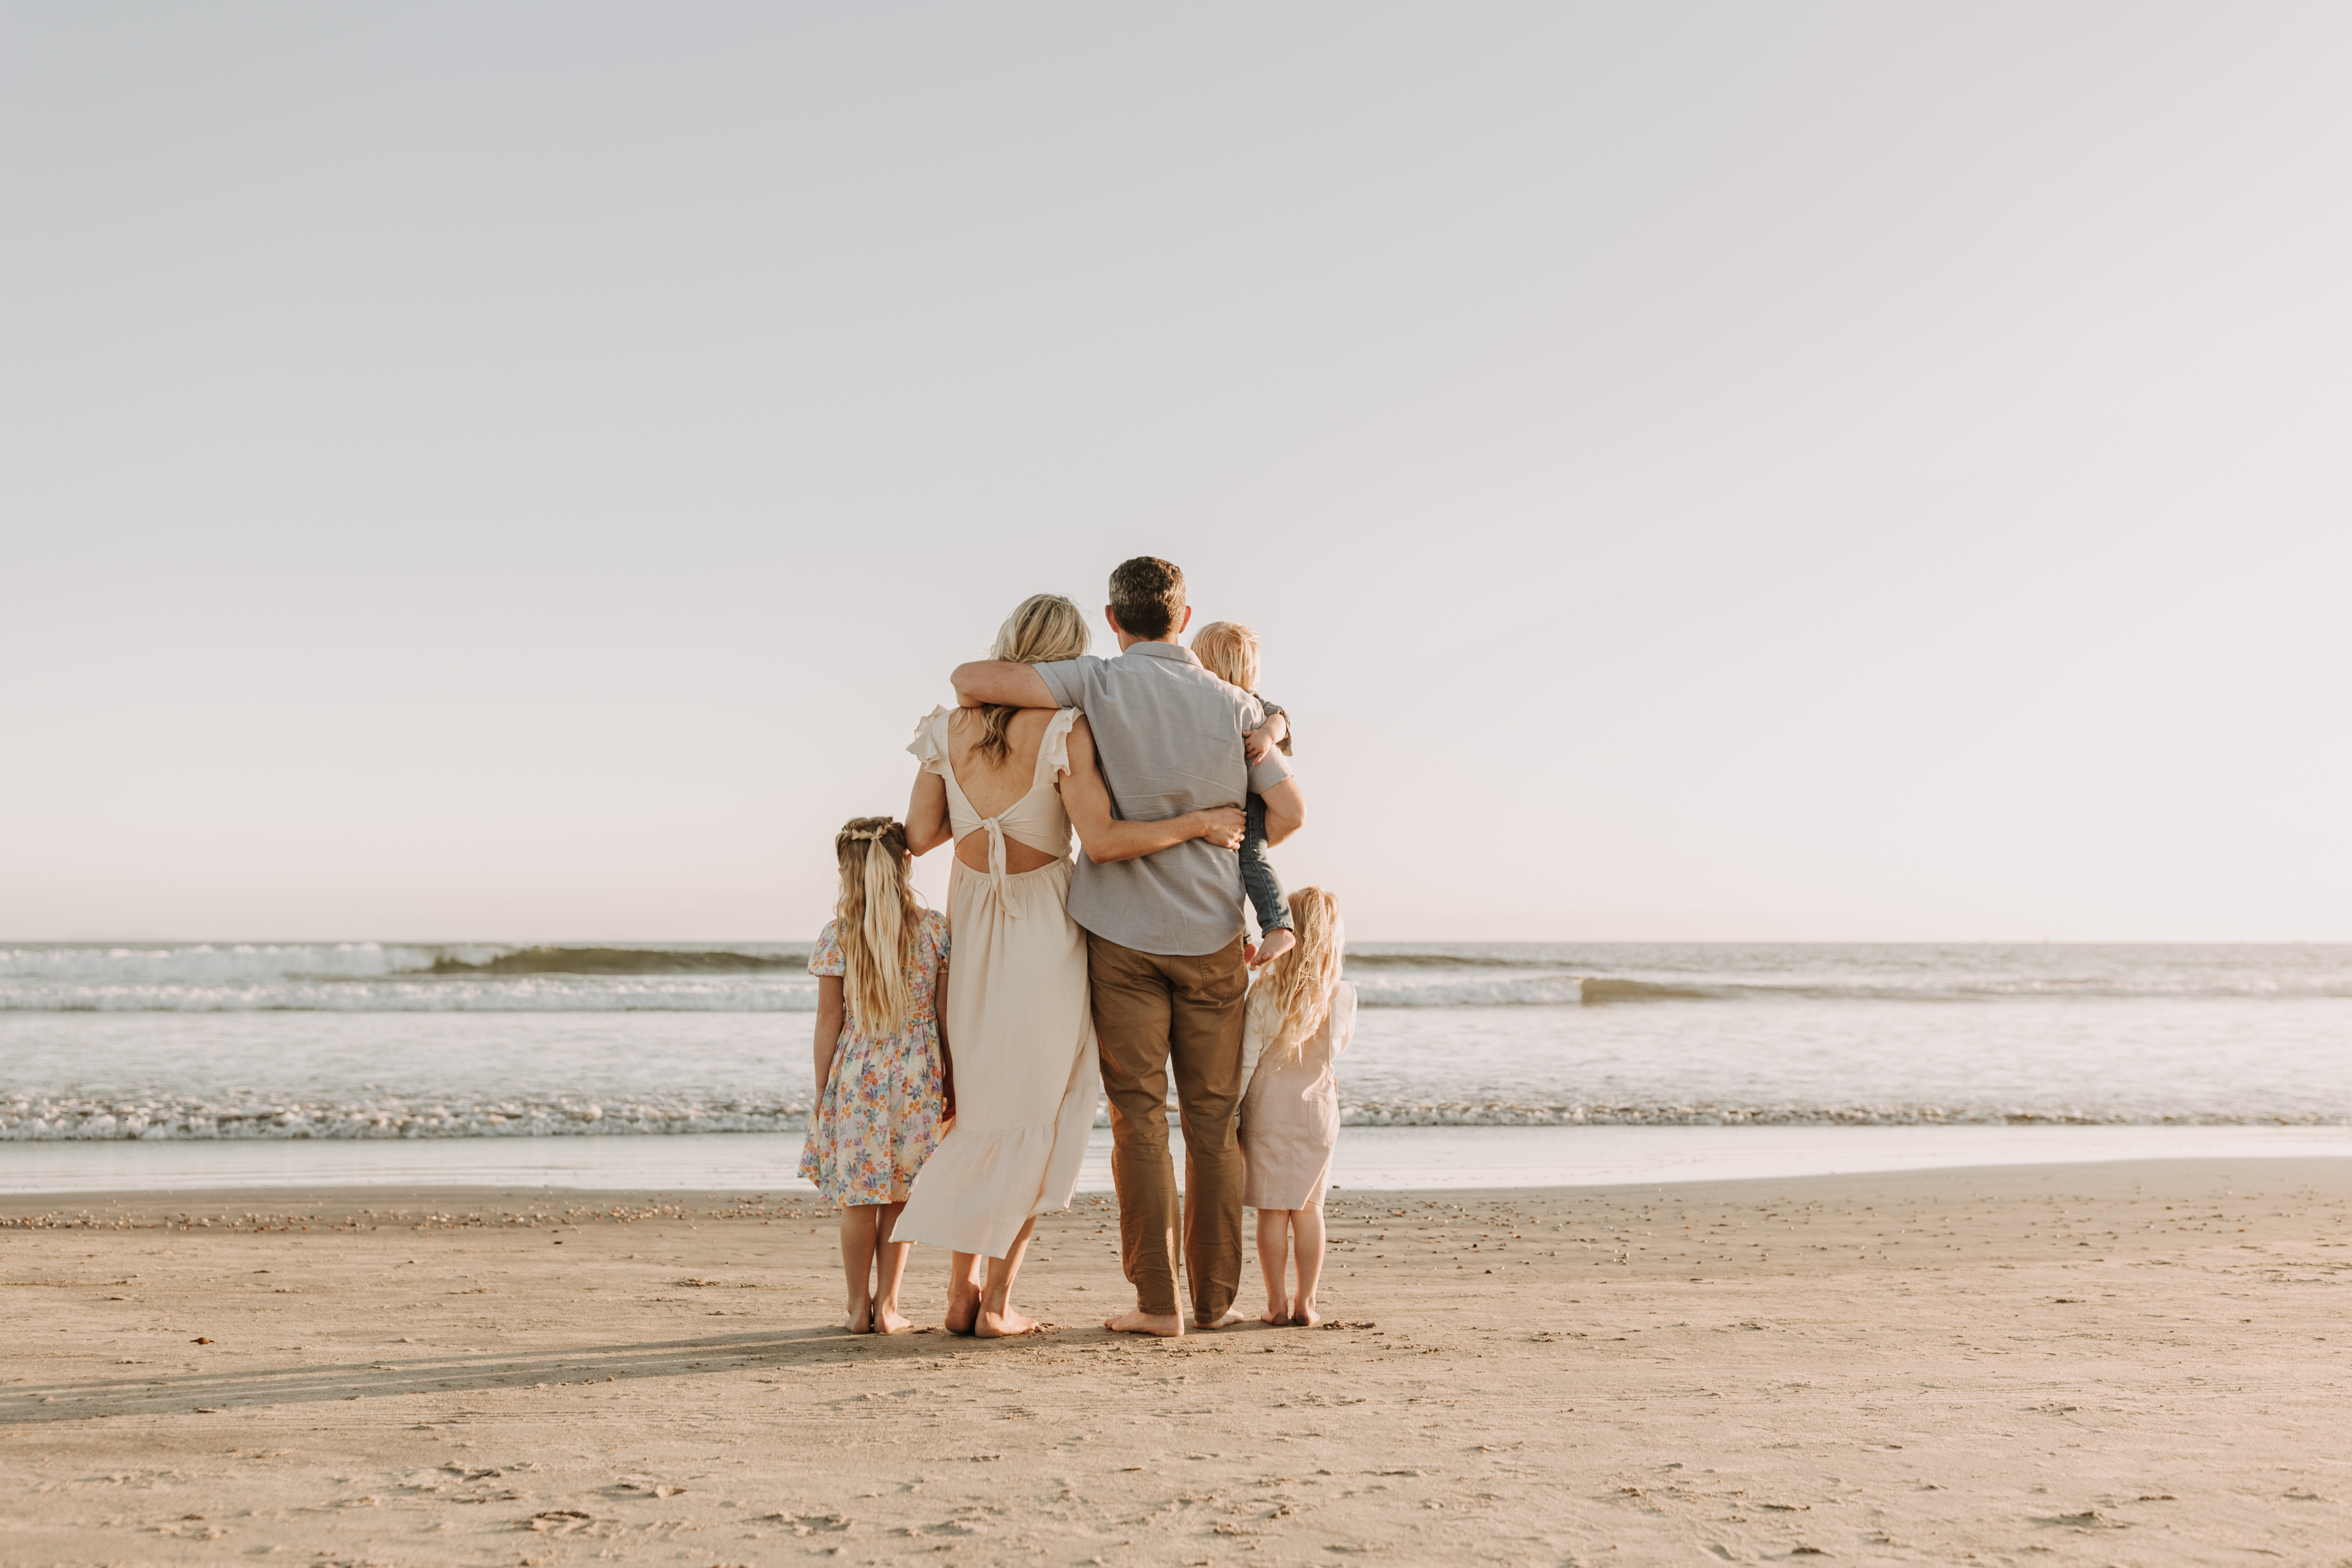
[[[2352,947],[1357,943],[1348,1126],[2340,1126]],[[0,1145],[795,1133],[807,945],[0,947]]]

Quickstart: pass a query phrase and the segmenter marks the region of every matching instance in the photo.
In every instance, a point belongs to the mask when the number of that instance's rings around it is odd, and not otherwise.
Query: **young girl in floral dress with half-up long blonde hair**
[[[854,816],[833,835],[842,891],[816,938],[816,1110],[800,1175],[842,1206],[849,1333],[901,1333],[898,1276],[908,1244],[891,1241],[948,1107],[948,919],[915,903],[906,827]]]

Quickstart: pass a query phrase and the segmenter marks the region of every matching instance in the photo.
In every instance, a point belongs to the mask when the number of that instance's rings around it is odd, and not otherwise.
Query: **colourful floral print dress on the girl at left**
[[[948,957],[948,917],[924,910],[915,924],[906,980],[913,1016],[898,1034],[868,1034],[856,1018],[842,1018],[833,1070],[809,1112],[809,1140],[800,1150],[802,1180],[816,1182],[830,1204],[903,1204],[922,1161],[938,1147],[948,1114],[948,1084],[938,1060],[938,1013],[931,983]],[[809,954],[811,976],[847,969],[842,943],[826,922]]]

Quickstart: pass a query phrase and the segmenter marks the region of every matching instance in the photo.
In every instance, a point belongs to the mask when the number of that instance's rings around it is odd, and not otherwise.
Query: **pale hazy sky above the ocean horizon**
[[[2352,940],[2347,49],[19,0],[0,938],[814,936],[1150,552],[1357,938]]]

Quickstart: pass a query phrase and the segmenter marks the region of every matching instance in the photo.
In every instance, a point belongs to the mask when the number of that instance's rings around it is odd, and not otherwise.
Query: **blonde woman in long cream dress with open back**
[[[1042,592],[997,630],[990,658],[1040,665],[1084,651],[1087,618]],[[891,1234],[955,1253],[950,1331],[1030,1333],[1037,1324],[1011,1305],[1014,1276],[1037,1215],[1068,1206],[1077,1187],[1101,1088],[1087,933],[1065,907],[1070,804],[1061,792],[1073,769],[1096,778],[1094,738],[1075,708],[936,708],[908,750],[922,764],[906,809],[908,851],[955,839],[955,983],[943,1020],[955,1041],[955,1121]],[[1094,860],[1240,837],[1240,811],[1120,823],[1103,802],[1089,792],[1080,820]]]

